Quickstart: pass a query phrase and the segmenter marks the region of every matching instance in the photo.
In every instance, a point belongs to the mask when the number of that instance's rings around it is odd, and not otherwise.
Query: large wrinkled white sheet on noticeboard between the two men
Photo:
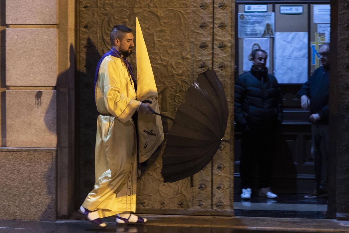
[[[274,76],[279,83],[304,83],[308,80],[308,33],[276,32]]]

